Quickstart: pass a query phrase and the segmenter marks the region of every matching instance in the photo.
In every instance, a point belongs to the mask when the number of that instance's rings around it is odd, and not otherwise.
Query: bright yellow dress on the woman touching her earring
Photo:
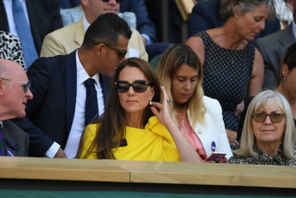
[[[84,158],[89,150],[99,126],[100,124],[86,126],[80,158]],[[149,119],[144,129],[126,126],[125,138],[126,146],[113,148],[117,160],[180,161],[174,140],[155,116]],[[95,150],[93,148],[86,159],[97,159]]]

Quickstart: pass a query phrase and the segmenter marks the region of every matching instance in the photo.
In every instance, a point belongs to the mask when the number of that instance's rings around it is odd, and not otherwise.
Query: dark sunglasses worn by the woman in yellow
[[[115,82],[116,90],[119,93],[128,92],[130,86],[133,87],[134,91],[137,93],[143,93],[147,90],[147,87],[151,85],[146,80],[136,80],[134,83],[128,83],[127,81],[118,80]]]

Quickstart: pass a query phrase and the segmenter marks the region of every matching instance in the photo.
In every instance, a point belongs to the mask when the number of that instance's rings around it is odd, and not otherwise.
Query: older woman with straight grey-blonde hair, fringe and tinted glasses
[[[278,91],[263,91],[248,107],[241,146],[228,163],[296,166],[295,133],[286,98]]]

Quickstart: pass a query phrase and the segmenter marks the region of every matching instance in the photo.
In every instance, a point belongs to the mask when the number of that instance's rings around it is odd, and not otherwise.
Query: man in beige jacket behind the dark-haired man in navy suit
[[[66,55],[80,48],[86,29],[98,16],[107,12],[119,13],[120,3],[117,3],[115,0],[110,0],[109,2],[81,0],[81,3],[85,14],[77,23],[47,34],[43,40],[41,57]],[[126,58],[139,57],[148,60],[140,33],[135,29],[132,29],[132,32]]]

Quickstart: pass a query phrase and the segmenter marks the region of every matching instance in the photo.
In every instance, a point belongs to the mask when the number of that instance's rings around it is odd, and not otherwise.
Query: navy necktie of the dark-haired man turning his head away
[[[98,117],[98,105],[96,90],[94,87],[94,79],[89,78],[84,81],[86,87],[86,99],[85,99],[85,122],[84,125],[91,123],[96,117]]]

